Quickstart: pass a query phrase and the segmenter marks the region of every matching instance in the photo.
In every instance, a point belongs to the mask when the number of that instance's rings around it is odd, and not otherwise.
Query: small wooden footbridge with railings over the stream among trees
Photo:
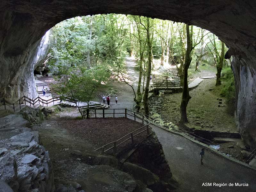
[[[149,92],[154,92],[159,94],[159,91],[174,91],[174,92],[181,92],[182,87],[180,86],[180,82],[177,80],[170,80],[168,77],[162,82],[153,82],[153,86],[149,90]]]

